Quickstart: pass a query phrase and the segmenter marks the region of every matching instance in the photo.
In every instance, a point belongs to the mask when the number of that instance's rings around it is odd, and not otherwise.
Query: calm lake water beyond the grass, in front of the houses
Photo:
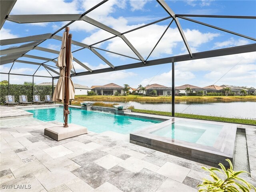
[[[94,101],[90,101],[94,102]],[[104,102],[130,104],[135,109],[172,112],[170,102]],[[179,102],[175,103],[176,113],[243,118],[256,120],[256,102]]]

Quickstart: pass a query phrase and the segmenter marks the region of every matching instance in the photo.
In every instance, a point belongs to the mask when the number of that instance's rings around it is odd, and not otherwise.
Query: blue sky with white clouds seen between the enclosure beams
[[[10,14],[81,14],[100,1],[64,1],[64,0],[18,0]],[[239,1],[239,0],[190,0],[190,1],[166,1],[176,14],[214,14],[214,15],[256,15],[256,1]],[[154,0],[110,0],[103,6],[90,12],[87,16],[102,22],[103,24],[114,28],[119,32],[126,32],[138,26],[153,22],[155,20],[167,17],[168,14]],[[246,36],[256,38],[256,21],[249,19],[225,19],[225,18],[192,18],[207,24],[215,25],[226,30],[234,31]],[[144,59],[148,57],[152,48],[167,28],[169,20],[136,30],[125,34],[126,38],[140,52]],[[180,19],[180,24],[184,34],[189,42],[193,53],[219,48],[227,48],[238,45],[255,43],[252,40],[228,34],[213,28],[202,26],[193,22]],[[37,24],[16,24],[6,21],[0,31],[0,39],[25,37],[38,34],[53,33],[58,28],[64,26],[67,22],[37,23]],[[63,32],[63,31],[62,31]],[[62,32],[58,35],[62,36]],[[76,21],[70,25],[70,33],[73,34],[73,40],[85,44],[99,42],[105,38],[113,36],[112,34],[92,26],[84,21]],[[5,49],[13,44],[1,46]],[[46,40],[41,47],[60,50],[61,42],[58,40]],[[136,57],[122,39],[116,37],[101,44],[95,45],[98,48],[118,52],[128,56]],[[81,47],[72,46],[72,51]],[[108,52],[100,51],[108,61],[114,66],[135,63],[138,60],[118,56]],[[27,54],[56,58],[58,55],[47,52],[32,50]],[[180,54],[188,54],[178,29],[174,23],[168,28],[162,40],[152,52],[148,60],[165,58]],[[74,57],[90,66],[92,69],[109,67],[100,58],[92,54],[88,49],[75,52]],[[22,58],[33,62],[44,62],[42,60]],[[54,66],[53,62],[48,62]],[[12,64],[0,66],[1,72],[8,72]],[[232,68],[234,66],[234,68]],[[86,71],[80,65],[74,62],[76,72]],[[15,63],[11,73],[34,74],[38,66]],[[215,84],[229,84],[237,86],[256,87],[256,53],[246,53],[238,55],[223,56],[202,60],[193,60],[188,62],[176,63],[176,86],[182,84],[192,84],[195,86],[208,86],[214,84],[226,72],[230,70],[223,78]],[[50,72],[52,73],[52,72]],[[36,75],[50,76],[42,67],[39,68]],[[1,74],[1,80],[6,80],[7,76]],[[129,84],[136,88],[139,84],[158,83],[165,86],[171,86],[171,64],[159,66],[150,66],[130,70],[109,72],[105,74],[95,74],[88,76],[79,76],[72,78],[74,83],[92,86],[103,85],[110,82],[123,85]],[[35,77],[35,82],[50,82],[51,78]],[[32,81],[31,77],[10,76],[10,83],[22,84],[24,81]]]

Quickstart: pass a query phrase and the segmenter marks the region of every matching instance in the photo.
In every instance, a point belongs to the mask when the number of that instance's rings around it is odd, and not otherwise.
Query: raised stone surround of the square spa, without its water
[[[234,124],[193,119],[185,120],[188,122],[224,125],[213,147],[150,134],[150,132],[178,120],[184,119],[175,117],[172,120],[132,132],[130,133],[130,142],[215,167],[220,162],[228,167],[229,164],[225,160],[227,158],[233,162],[237,129],[237,126]]]

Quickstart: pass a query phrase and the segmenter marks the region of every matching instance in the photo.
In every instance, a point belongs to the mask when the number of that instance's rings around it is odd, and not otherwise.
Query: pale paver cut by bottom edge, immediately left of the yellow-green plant
[[[194,189],[190,186],[167,178],[164,183],[156,190],[156,192],[197,192],[197,189]]]

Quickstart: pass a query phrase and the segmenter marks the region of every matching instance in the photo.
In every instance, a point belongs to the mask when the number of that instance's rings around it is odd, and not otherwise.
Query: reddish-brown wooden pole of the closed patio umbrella
[[[66,27],[67,39],[66,39],[66,69],[65,69],[65,98],[64,98],[64,127],[68,127],[68,110],[69,104],[69,77],[70,77],[70,51],[71,51],[71,38],[72,34],[69,34],[69,27]]]

